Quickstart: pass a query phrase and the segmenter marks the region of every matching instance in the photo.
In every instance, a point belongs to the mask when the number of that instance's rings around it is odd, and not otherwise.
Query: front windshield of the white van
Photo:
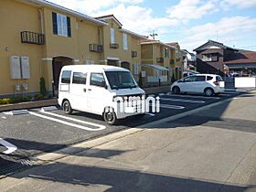
[[[105,71],[105,73],[112,90],[138,87],[132,74],[128,71]]]

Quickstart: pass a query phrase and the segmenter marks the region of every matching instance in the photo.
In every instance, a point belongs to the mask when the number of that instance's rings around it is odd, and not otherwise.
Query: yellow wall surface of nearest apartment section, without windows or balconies
[[[71,37],[53,34],[52,12],[70,17]],[[99,43],[99,26],[86,20],[81,21],[78,17],[67,15],[57,9],[28,5],[18,0],[1,0],[0,23],[4,26],[1,28],[0,36],[0,81],[3,82],[0,85],[0,96],[22,93],[15,91],[15,85],[23,83],[28,84],[28,90],[24,92],[37,92],[39,79],[42,76],[46,79],[47,89],[50,91],[53,80],[52,59],[56,57],[76,60],[79,61],[78,64],[84,64],[86,60],[99,63],[102,58],[101,53],[91,52],[89,49],[89,44]],[[22,43],[21,31],[43,32],[46,43],[44,45]],[[29,57],[29,80],[11,80],[9,62],[11,56]]]

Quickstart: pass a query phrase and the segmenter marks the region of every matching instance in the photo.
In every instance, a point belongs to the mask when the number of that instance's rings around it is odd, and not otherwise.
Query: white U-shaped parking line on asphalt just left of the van
[[[29,113],[32,114],[32,115],[35,115],[37,117],[48,119],[50,121],[57,122],[57,123],[66,124],[66,125],[69,125],[69,126],[72,126],[72,127],[76,127],[76,128],[79,128],[79,129],[86,130],[86,131],[96,132],[96,131],[101,131],[103,129],[106,129],[106,126],[101,125],[101,124],[80,121],[80,120],[77,120],[77,119],[74,119],[74,118],[66,117],[66,116],[55,114],[55,113],[52,113],[52,112],[43,112],[43,113],[47,113],[49,115],[57,116],[59,118],[67,119],[67,120],[70,120],[70,121],[73,121],[73,122],[77,122],[77,123],[83,123],[83,124],[92,125],[92,126],[99,127],[99,128],[90,128],[90,127],[87,127],[87,126],[82,126],[80,124],[65,122],[63,120],[59,120],[59,119],[56,119],[56,118],[53,118],[53,117],[48,117],[46,115],[38,114],[37,112],[29,112]]]

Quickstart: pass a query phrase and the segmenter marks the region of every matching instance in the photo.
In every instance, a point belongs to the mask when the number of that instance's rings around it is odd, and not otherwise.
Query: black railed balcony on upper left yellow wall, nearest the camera
[[[40,33],[35,33],[31,31],[20,32],[21,43],[44,45],[45,35]]]

